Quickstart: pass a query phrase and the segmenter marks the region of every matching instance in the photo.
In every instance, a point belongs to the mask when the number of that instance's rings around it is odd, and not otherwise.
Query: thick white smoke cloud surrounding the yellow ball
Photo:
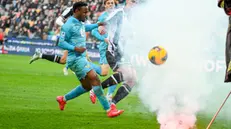
[[[194,125],[195,115],[209,103],[216,103],[210,113],[219,107],[226,92],[211,93],[223,85],[224,70],[218,79],[218,73],[204,71],[204,62],[220,58],[218,55],[224,59],[227,20],[217,0],[149,0],[134,8],[131,22],[123,29],[134,33],[125,54],[131,57],[138,77],[143,77],[137,90],[139,97],[157,113],[159,123],[174,115],[186,115],[192,116],[187,123]],[[161,66],[147,59],[149,50],[157,45],[168,51],[168,59]],[[143,62],[137,62],[139,57]],[[218,102],[213,101],[215,97],[220,98]]]

